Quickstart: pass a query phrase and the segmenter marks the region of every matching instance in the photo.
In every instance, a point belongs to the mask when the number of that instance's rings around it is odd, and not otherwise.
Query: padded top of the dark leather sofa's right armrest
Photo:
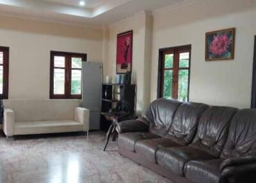
[[[250,164],[250,163],[256,163],[256,157],[255,156],[248,155],[248,156],[244,156],[244,157],[225,159],[220,164],[220,171],[223,171],[228,166],[240,166],[242,164]]]

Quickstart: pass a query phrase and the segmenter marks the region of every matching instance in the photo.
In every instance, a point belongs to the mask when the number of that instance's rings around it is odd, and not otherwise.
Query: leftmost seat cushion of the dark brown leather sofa
[[[134,145],[136,141],[141,139],[154,139],[160,138],[156,134],[150,132],[127,132],[119,134],[118,136],[118,147],[125,148],[126,150],[134,152]]]

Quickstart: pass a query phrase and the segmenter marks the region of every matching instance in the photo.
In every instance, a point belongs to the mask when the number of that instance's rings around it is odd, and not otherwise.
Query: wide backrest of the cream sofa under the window
[[[8,99],[3,100],[4,108],[11,108],[15,122],[74,120],[74,108],[81,100],[70,99]]]

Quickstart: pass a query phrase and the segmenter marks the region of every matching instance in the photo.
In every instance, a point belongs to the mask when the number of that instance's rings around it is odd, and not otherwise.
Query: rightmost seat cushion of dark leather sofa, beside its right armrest
[[[218,183],[221,159],[189,161],[185,165],[185,177],[193,182]]]

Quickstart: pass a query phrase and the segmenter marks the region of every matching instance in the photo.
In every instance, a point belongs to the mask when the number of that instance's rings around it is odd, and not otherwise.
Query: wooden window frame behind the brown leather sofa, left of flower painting
[[[179,54],[182,52],[189,52],[189,67],[186,67],[186,68],[179,67]],[[173,54],[173,68],[164,68],[164,55],[166,54]],[[189,101],[190,69],[191,69],[191,45],[182,45],[178,47],[167,47],[164,49],[159,49],[157,99],[164,97],[163,88],[164,88],[164,71],[165,70],[173,70],[172,99],[178,99],[179,70],[188,70],[188,101]]]

